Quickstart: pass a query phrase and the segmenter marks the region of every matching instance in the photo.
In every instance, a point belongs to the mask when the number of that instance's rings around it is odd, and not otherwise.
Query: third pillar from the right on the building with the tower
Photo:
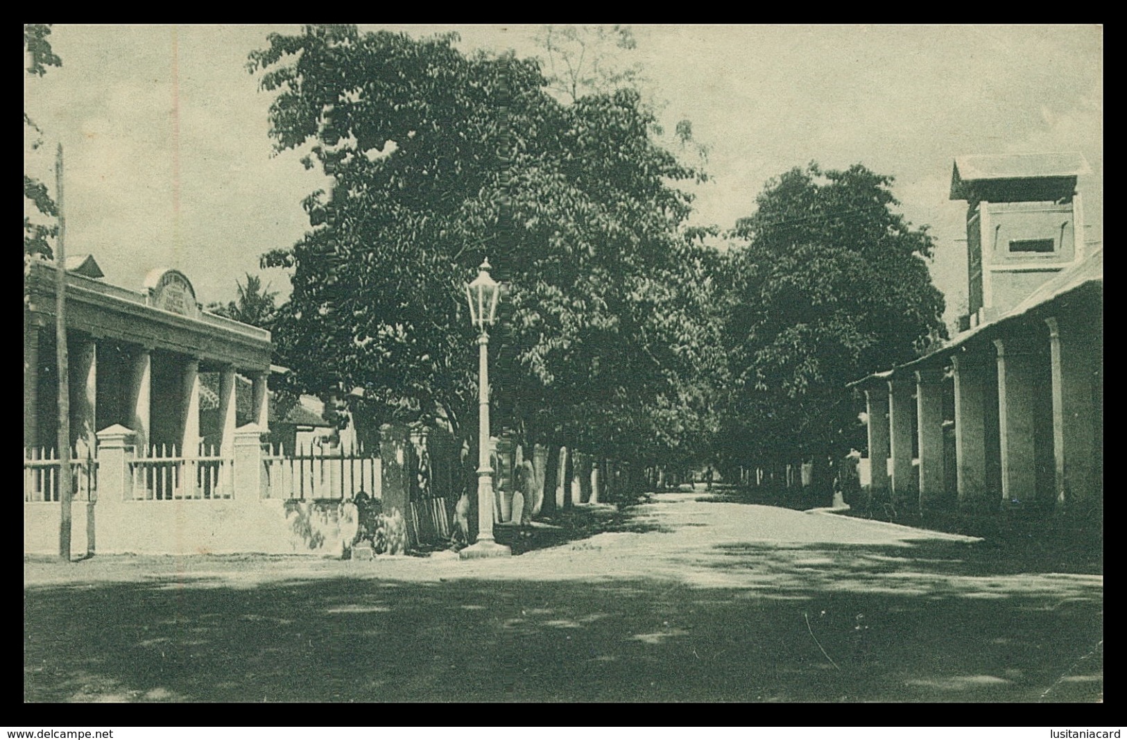
[[[986,367],[955,355],[955,460],[959,503],[980,502],[986,493]]]

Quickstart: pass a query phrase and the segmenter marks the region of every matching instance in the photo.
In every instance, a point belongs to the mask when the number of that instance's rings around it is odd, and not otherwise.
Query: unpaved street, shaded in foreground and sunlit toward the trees
[[[1101,576],[737,501],[487,561],[29,561],[25,698],[1100,701]]]

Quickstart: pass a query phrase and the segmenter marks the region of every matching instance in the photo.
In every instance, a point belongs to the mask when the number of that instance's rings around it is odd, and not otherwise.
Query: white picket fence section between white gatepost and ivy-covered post
[[[286,452],[266,446],[263,453],[266,498],[346,499],[360,491],[380,498],[380,452],[363,444],[337,447],[299,446]]]

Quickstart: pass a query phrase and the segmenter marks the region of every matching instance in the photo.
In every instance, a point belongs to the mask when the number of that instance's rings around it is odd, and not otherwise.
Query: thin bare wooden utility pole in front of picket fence
[[[55,159],[55,191],[59,205],[59,240],[55,249],[55,360],[59,377],[59,559],[70,562],[71,470],[70,470],[70,369],[66,359],[66,217],[63,215],[63,145]]]

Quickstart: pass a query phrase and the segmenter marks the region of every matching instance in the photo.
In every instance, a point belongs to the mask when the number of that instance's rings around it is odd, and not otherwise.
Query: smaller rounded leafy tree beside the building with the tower
[[[891,182],[861,164],[811,163],[770,181],[737,222],[729,457],[843,454],[860,444],[845,384],[946,337],[932,238],[894,211]]]

